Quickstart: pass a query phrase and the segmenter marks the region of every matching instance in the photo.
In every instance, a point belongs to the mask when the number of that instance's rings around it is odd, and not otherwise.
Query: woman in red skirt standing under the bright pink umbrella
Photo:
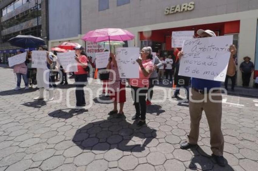
[[[125,84],[123,84],[122,80],[119,77],[117,61],[113,53],[110,53],[107,69],[114,71],[109,72],[110,84],[108,84],[108,90],[110,91],[110,99],[114,100],[114,109],[110,111],[108,115],[117,114],[117,118],[121,118],[124,117],[123,108],[124,102],[126,101]],[[117,111],[117,103],[120,104],[119,112]]]

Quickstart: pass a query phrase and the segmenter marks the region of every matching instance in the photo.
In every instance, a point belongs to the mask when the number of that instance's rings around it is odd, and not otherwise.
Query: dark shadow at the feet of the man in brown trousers
[[[221,167],[219,165],[215,165],[216,163],[215,159],[213,159],[212,156],[205,153],[200,146],[197,148],[191,148],[192,152],[194,153],[194,156],[192,160],[190,161],[189,168],[191,170],[219,170],[219,171],[233,171],[234,169],[226,164],[225,167]],[[225,159],[226,160],[226,159]],[[228,163],[226,161],[226,163]]]

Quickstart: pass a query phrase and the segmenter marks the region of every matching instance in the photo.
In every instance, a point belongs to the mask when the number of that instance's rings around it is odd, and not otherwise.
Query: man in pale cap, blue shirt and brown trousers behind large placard
[[[216,36],[216,34],[211,30],[198,30],[197,34],[200,36],[200,38]],[[231,57],[236,53],[236,47],[234,45],[230,46],[230,53]],[[182,51],[178,53],[179,58],[181,58],[183,55],[184,54]],[[180,147],[182,149],[188,149],[197,146],[199,137],[199,125],[202,118],[202,111],[204,110],[210,129],[212,156],[219,166],[225,166],[226,161],[223,157],[224,139],[221,131],[222,95],[219,89],[221,82],[192,78],[191,84],[192,93],[189,101],[189,113],[191,121],[190,132],[188,135],[188,141],[182,142]]]

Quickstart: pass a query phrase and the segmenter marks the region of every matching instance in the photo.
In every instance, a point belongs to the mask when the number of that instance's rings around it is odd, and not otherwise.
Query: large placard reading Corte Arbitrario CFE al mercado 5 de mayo
[[[225,81],[233,35],[185,40],[178,75]]]

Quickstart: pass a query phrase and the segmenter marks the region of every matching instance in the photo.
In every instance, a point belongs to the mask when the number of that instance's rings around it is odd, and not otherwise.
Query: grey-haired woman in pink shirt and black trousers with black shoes
[[[129,79],[131,85],[132,97],[135,103],[136,114],[132,120],[139,120],[137,126],[143,126],[146,118],[146,93],[149,87],[149,77],[153,72],[152,54],[150,47],[144,47],[141,50],[141,59],[137,60],[139,64],[139,78]]]

